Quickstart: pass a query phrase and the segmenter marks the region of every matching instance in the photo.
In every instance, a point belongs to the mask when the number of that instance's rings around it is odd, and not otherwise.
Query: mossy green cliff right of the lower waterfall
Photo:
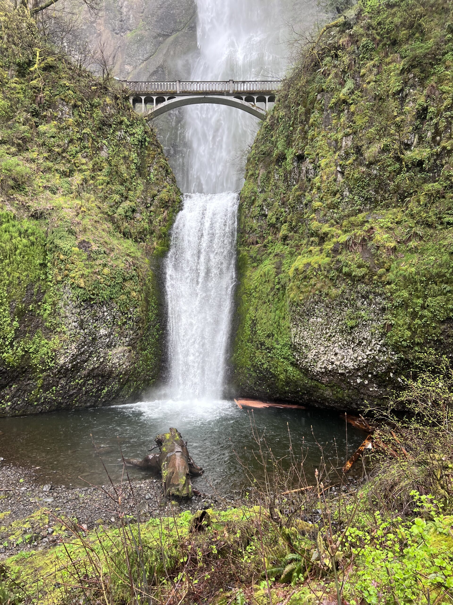
[[[361,0],[306,48],[240,198],[242,393],[361,407],[451,354],[452,117],[450,1]]]

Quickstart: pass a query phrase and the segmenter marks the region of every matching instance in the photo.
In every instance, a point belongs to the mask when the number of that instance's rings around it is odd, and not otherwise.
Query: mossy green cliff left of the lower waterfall
[[[179,190],[114,82],[0,27],[0,415],[124,401],[158,375]]]

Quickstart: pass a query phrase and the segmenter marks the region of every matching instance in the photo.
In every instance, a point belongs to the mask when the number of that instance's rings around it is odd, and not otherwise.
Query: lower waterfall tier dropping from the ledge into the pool
[[[188,194],[165,262],[170,388],[221,397],[236,283],[238,195]]]

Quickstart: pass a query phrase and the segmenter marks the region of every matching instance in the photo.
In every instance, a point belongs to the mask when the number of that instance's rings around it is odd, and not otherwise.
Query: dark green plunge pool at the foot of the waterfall
[[[301,459],[304,453],[308,477],[320,465],[321,448],[324,459],[340,467],[364,439],[362,431],[350,425],[346,429],[339,413],[316,408],[255,410],[251,417],[232,401],[165,400],[0,419],[0,456],[5,463],[39,466],[43,482],[83,485],[85,480],[98,485],[108,478],[91,435],[109,474],[118,480],[123,470],[120,448],[124,457],[141,458],[156,434],[176,427],[195,462],[205,469],[194,485],[208,491],[206,482],[211,482],[225,493],[246,485],[243,465],[261,473],[251,422],[283,466],[289,428],[295,456]],[[130,475],[149,476],[137,469]]]

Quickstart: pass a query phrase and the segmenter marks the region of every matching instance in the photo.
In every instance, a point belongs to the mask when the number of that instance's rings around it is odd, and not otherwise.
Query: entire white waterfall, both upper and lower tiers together
[[[191,79],[280,74],[278,0],[196,5],[199,54]],[[222,396],[236,279],[234,191],[242,184],[231,159],[258,127],[258,119],[230,107],[195,105],[185,111],[188,155],[179,180],[187,194],[165,264],[170,387],[179,399]]]

